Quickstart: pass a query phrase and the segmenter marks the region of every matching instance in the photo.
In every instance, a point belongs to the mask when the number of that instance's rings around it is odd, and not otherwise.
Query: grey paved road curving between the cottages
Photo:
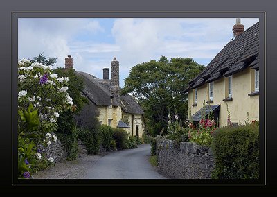
[[[88,170],[87,179],[165,179],[149,162],[150,144],[115,151],[100,158]]]

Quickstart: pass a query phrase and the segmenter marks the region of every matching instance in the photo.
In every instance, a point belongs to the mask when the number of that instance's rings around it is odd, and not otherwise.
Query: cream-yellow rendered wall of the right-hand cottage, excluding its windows
[[[247,121],[247,112],[249,113],[249,120],[259,119],[259,96],[248,96],[251,93],[251,82],[253,82],[253,74],[251,75],[251,68],[247,68],[238,74],[232,76],[232,98],[233,101],[222,101],[226,98],[226,88],[228,85],[225,83],[225,78],[215,80],[213,87],[213,103],[211,105],[220,104],[220,126],[226,126],[227,124],[227,108],[228,104],[231,122],[244,123]],[[227,80],[228,81],[228,80]],[[208,92],[207,84],[197,88],[197,106],[193,107],[193,91],[188,92],[188,108],[191,108],[191,114],[194,114],[202,108],[203,101],[207,101]],[[206,103],[205,103],[206,104]],[[206,104],[208,105],[208,104]]]

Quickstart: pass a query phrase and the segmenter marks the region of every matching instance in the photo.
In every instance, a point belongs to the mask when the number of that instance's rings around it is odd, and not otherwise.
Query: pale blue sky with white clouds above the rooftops
[[[258,19],[241,19],[244,30]],[[113,57],[120,61],[120,86],[136,64],[193,58],[208,65],[233,37],[235,19],[19,19],[19,59],[72,55],[74,69],[102,78]]]

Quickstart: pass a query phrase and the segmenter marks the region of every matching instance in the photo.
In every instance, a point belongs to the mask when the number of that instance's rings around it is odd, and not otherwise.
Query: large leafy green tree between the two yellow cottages
[[[188,81],[204,69],[193,58],[168,58],[161,56],[132,67],[125,78],[123,94],[136,98],[145,112],[146,126],[151,135],[168,127],[169,112],[177,112],[184,123],[187,118]]]

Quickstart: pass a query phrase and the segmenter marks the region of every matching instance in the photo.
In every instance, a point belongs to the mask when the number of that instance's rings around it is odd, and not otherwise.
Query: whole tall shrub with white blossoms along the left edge
[[[18,175],[30,178],[37,169],[53,164],[45,158],[42,146],[57,141],[51,132],[57,130],[60,112],[74,110],[67,93],[68,80],[53,73],[52,68],[30,60],[18,62]]]

